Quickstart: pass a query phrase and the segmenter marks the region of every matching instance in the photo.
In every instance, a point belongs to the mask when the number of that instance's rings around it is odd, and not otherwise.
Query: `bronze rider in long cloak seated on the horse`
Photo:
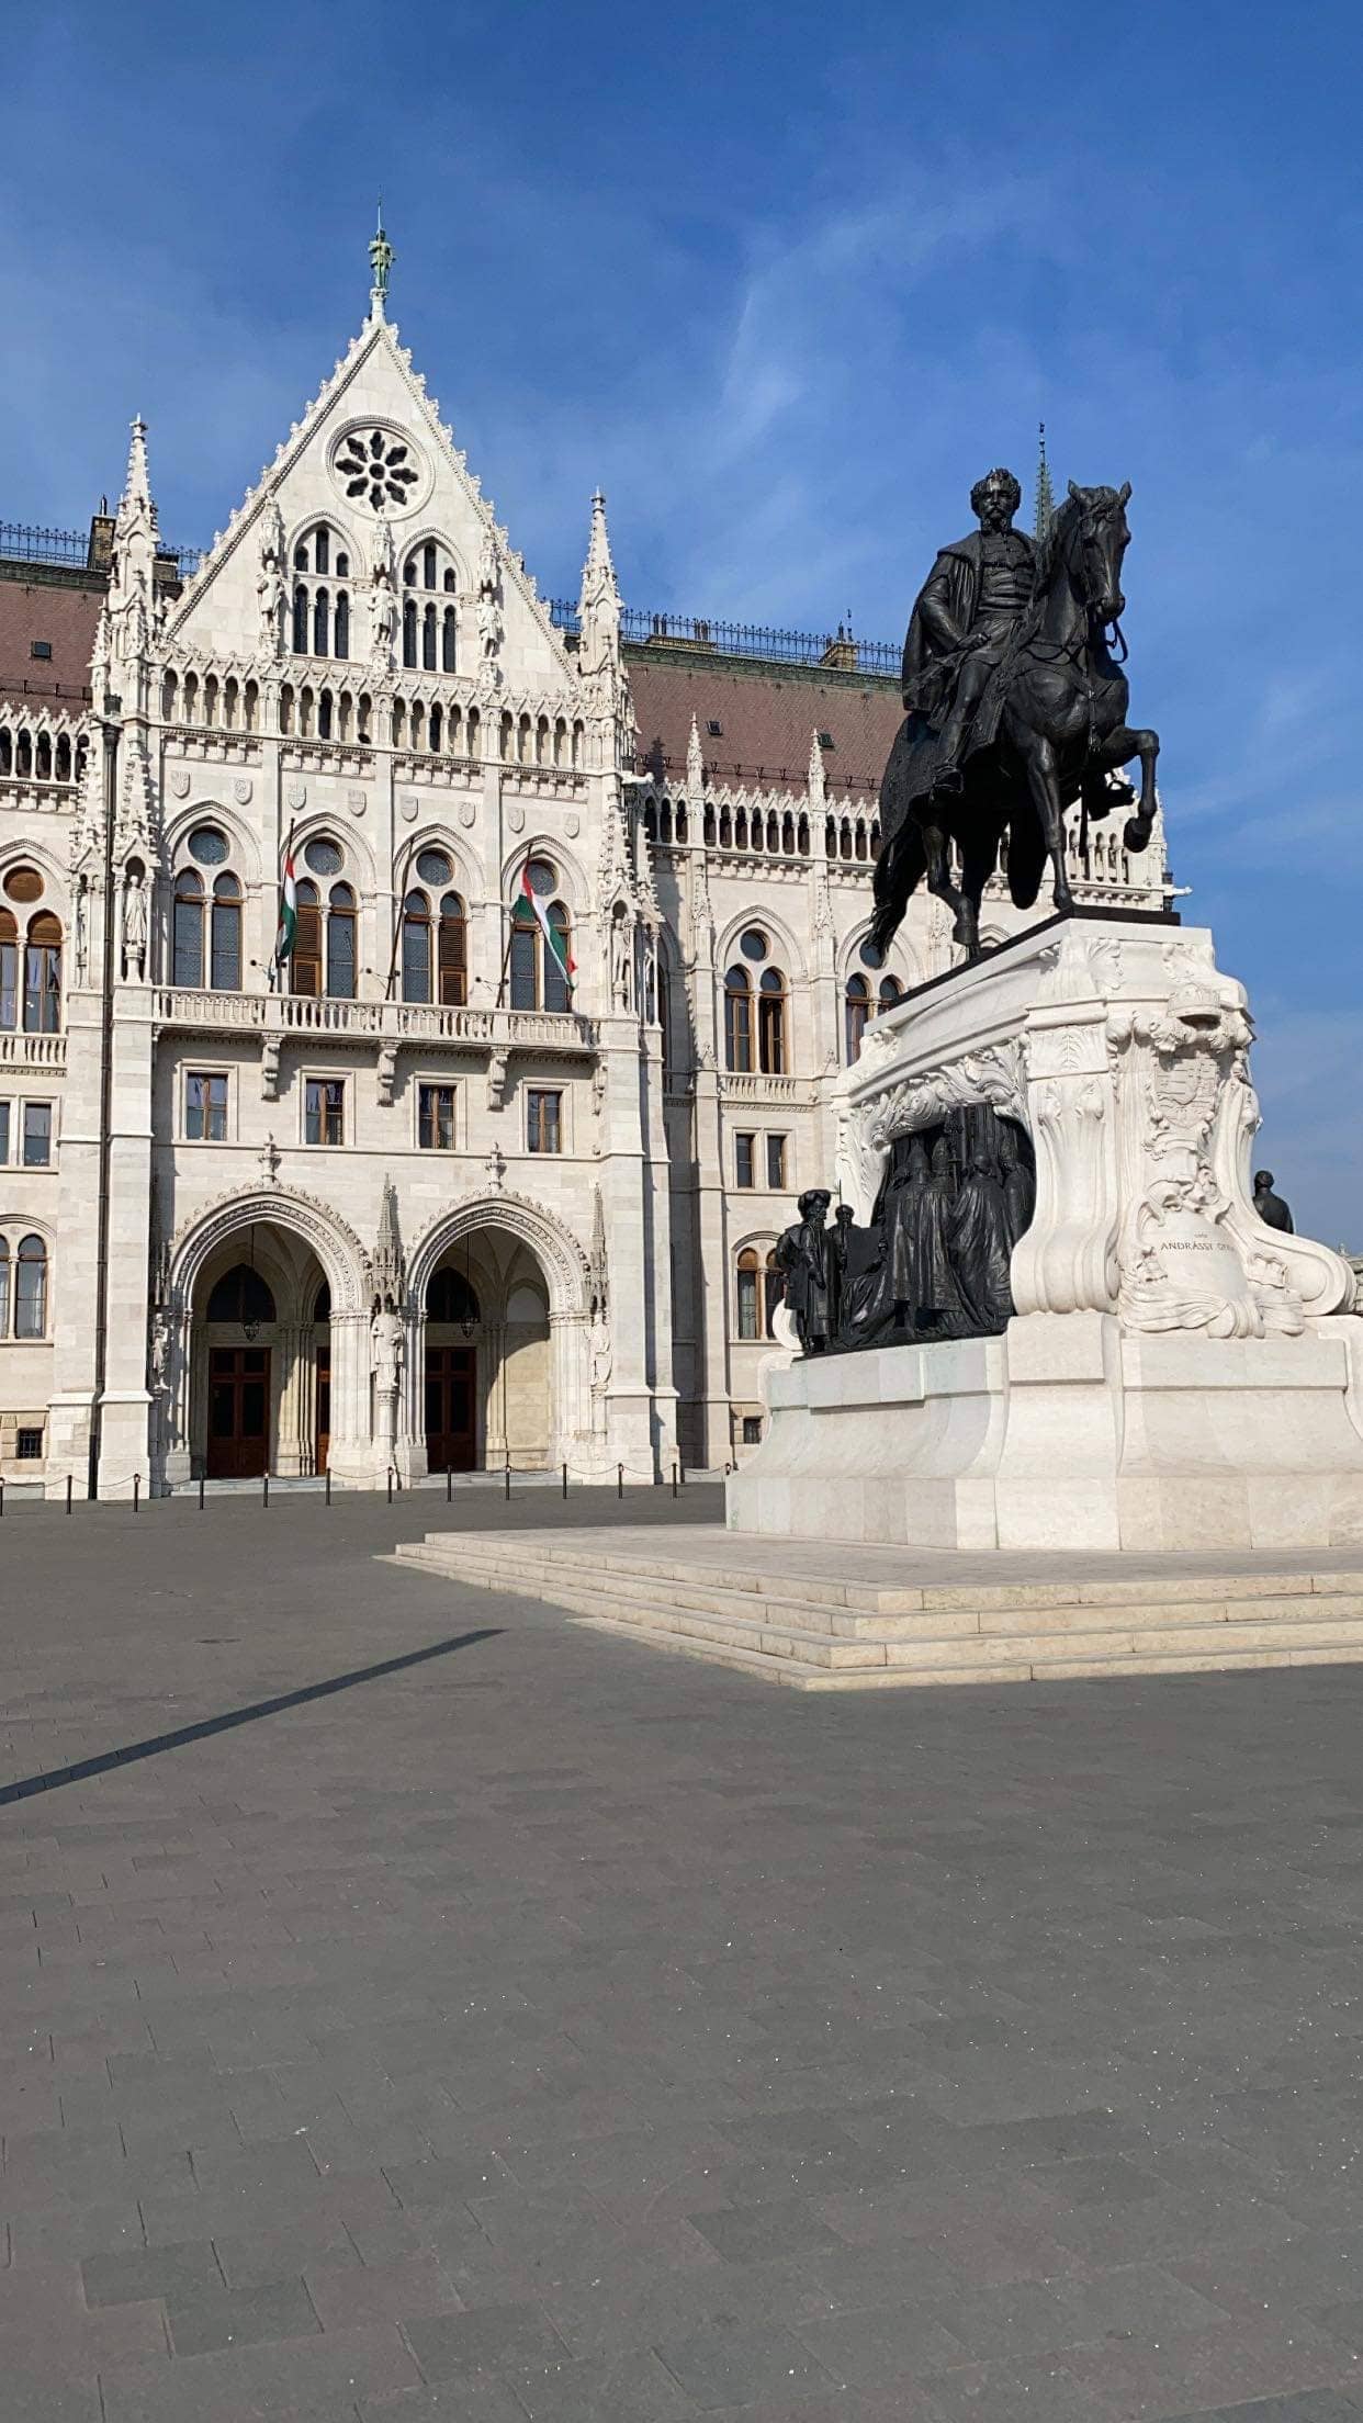
[[[934,790],[960,790],[965,758],[997,734],[999,703],[985,693],[1031,603],[1036,574],[1033,543],[1014,531],[1019,504],[1011,470],[990,470],[975,482],[970,509],[980,528],[941,550],[909,620],[905,712],[922,715],[939,737]]]

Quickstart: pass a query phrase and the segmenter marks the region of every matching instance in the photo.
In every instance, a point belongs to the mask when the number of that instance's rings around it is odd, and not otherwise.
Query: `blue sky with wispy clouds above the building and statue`
[[[1060,480],[1130,480],[1186,916],[1251,991],[1264,1158],[1363,1245],[1356,7],[133,0],[22,36],[0,519],[82,523],[141,409],[165,533],[211,538],[364,317],[378,184],[393,315],[553,594],[599,480],[631,603],[897,640],[1038,417]]]

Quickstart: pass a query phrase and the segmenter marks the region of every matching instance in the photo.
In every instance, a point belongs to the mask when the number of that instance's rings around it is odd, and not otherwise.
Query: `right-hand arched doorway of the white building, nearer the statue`
[[[500,1226],[449,1245],[424,1284],[427,1468],[543,1471],[555,1461],[548,1279]]]

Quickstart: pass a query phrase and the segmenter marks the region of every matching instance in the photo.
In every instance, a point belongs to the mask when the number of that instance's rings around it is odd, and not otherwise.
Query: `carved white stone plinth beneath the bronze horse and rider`
[[[1266,1228],[1244,989],[1203,928],[1067,918],[866,1032],[839,1190],[871,1219],[897,1136],[990,1102],[1036,1214],[1002,1337],[774,1359],[737,1531],[960,1548],[1363,1541],[1348,1262]]]

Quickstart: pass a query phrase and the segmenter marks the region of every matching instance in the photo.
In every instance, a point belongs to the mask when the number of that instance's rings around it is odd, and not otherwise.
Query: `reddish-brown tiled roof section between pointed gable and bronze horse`
[[[905,715],[895,681],[820,676],[786,664],[740,664],[732,657],[679,659],[650,647],[628,647],[626,661],[640,766],[682,775],[694,715],[706,775],[715,785],[800,787],[815,732],[829,732],[829,792],[880,787],[890,741]],[[711,722],[720,724],[718,734],[706,729]]]

